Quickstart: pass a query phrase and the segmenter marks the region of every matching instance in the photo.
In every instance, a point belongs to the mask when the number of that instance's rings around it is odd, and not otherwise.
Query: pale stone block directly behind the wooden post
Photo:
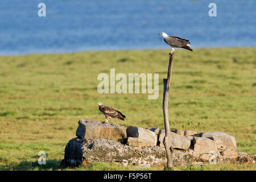
[[[160,130],[158,134],[158,141],[159,141],[159,146],[164,147],[163,140],[165,137],[165,132],[164,130]],[[191,139],[184,137],[182,135],[178,135],[174,132],[170,131],[170,142],[172,148],[179,148],[183,150],[187,150],[191,144]]]

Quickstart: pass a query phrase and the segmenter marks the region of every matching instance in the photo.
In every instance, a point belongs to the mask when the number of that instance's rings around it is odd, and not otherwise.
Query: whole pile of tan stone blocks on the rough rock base
[[[92,162],[135,166],[165,166],[164,130],[79,121],[76,138],[69,140],[61,167]],[[256,155],[236,150],[236,139],[221,132],[170,131],[174,166],[188,164],[255,163]]]

